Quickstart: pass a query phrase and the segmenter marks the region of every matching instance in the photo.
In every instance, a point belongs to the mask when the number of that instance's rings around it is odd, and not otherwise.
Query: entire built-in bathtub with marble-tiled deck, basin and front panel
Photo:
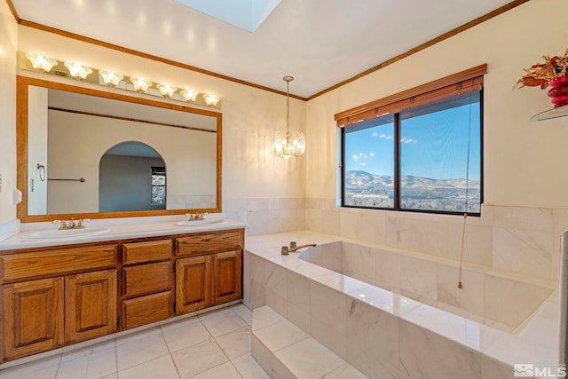
[[[288,256],[289,241],[317,243]],[[558,362],[556,283],[326,234],[250,236],[244,304],[270,305],[371,378],[510,378]]]

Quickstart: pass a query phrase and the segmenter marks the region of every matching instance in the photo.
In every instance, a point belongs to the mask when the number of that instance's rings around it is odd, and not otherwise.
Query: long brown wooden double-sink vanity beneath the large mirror
[[[241,299],[244,226],[3,242],[2,362]]]

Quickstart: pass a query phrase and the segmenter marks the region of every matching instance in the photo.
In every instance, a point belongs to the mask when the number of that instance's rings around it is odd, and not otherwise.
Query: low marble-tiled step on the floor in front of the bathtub
[[[253,311],[251,348],[272,378],[367,378],[268,305]]]

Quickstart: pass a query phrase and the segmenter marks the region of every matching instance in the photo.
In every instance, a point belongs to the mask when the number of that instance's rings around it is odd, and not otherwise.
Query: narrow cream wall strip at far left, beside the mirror
[[[16,219],[16,45],[18,29],[5,1],[0,2],[0,224]]]

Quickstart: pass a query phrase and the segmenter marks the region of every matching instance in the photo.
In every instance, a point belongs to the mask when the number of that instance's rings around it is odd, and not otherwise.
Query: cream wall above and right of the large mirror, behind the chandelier
[[[285,126],[284,96],[34,28],[19,26],[18,32],[20,51],[43,52],[60,60],[80,60],[96,68],[110,66],[127,75],[141,75],[153,82],[175,83],[178,87],[220,96],[223,210],[229,217],[248,222],[248,233],[304,228],[306,158],[284,160],[273,157],[268,149],[271,131]],[[290,99],[290,124],[296,129],[305,130],[305,109],[305,102]]]

